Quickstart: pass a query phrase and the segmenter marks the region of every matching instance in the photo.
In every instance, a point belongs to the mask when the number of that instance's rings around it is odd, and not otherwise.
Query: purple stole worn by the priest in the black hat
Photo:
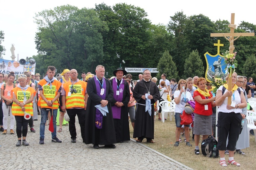
[[[114,99],[118,102],[123,101],[123,94],[124,94],[124,88],[125,88],[125,82],[124,79],[121,80],[120,86],[119,86],[119,95],[116,95],[117,91],[117,82],[116,78],[113,79],[113,90],[114,90]],[[113,119],[121,119],[121,108],[122,107],[117,107],[116,105],[112,106],[112,114],[113,114]]]

